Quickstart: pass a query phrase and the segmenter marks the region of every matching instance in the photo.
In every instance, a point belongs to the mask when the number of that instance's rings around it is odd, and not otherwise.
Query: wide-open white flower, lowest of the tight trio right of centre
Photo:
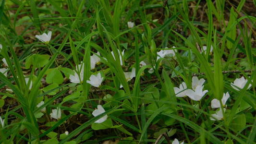
[[[204,86],[198,85],[195,87],[195,91],[188,89],[186,90],[186,95],[192,100],[199,101],[208,92],[208,90],[203,91],[203,88]]]

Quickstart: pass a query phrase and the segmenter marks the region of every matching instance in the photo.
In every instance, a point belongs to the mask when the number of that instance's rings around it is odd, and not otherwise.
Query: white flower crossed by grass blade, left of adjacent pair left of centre
[[[76,72],[80,72],[80,74],[78,75]],[[84,63],[79,64],[78,67],[76,66],[76,72],[74,71],[74,75],[70,74],[69,79],[71,83],[80,84],[84,80]]]

